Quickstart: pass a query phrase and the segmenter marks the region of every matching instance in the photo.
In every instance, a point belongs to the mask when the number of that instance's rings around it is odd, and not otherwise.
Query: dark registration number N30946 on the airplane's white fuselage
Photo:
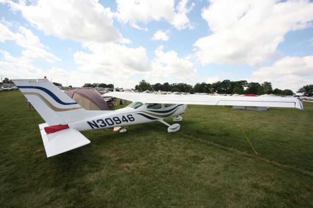
[[[126,115],[126,116],[122,116],[122,117],[118,117],[115,116],[113,118],[105,118],[105,119],[98,119],[96,121],[92,120],[91,122],[87,122],[90,127],[92,129],[96,128],[100,128],[100,127],[106,127],[106,126],[110,126],[110,125],[115,125],[115,124],[121,124],[121,123],[128,123],[128,122],[133,122],[135,119],[133,117],[132,114]]]

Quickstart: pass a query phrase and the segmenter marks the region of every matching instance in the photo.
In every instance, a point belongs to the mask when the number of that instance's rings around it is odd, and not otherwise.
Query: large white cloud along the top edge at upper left
[[[13,11],[47,35],[78,42],[129,42],[113,25],[110,8],[98,0],[38,0],[32,4],[9,1]]]

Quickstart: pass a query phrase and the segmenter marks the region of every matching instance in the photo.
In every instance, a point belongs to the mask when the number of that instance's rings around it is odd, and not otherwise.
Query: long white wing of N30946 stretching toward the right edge
[[[157,95],[146,93],[111,92],[112,97],[142,103],[238,105],[261,107],[295,107],[303,110],[302,103],[291,97],[206,96],[206,95]]]

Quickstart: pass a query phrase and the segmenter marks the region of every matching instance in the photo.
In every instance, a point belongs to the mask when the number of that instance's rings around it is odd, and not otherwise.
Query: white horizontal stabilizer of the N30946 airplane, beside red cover
[[[47,123],[39,125],[47,157],[61,154],[90,143],[83,134],[74,128],[67,128],[47,134],[45,132],[46,126],[48,126]]]

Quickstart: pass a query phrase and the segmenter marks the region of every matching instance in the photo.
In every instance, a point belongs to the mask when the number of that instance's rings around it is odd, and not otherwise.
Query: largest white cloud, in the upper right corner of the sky
[[[202,64],[217,62],[260,66],[277,58],[279,43],[292,30],[312,26],[313,3],[309,0],[210,0],[202,10],[212,35],[194,46]]]

